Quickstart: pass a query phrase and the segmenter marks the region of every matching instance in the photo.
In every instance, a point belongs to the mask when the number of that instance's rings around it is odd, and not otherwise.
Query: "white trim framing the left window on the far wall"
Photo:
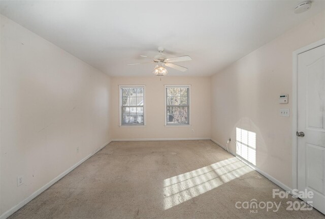
[[[143,124],[123,124],[122,125],[122,94],[121,88],[134,88],[134,87],[143,87]],[[135,84],[135,85],[118,85],[118,112],[119,112],[119,127],[120,128],[139,128],[146,127],[147,122],[147,113],[146,113],[146,85],[144,84]]]

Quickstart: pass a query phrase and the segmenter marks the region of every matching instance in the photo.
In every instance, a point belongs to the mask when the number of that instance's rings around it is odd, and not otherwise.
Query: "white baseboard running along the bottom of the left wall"
[[[52,179],[51,181],[49,181],[48,183],[46,183],[45,185],[43,185],[39,190],[37,190],[36,192],[32,193],[30,196],[28,196],[26,199],[24,199],[23,201],[21,201],[20,203],[18,203],[17,205],[15,205],[14,207],[12,207],[11,209],[9,209],[8,211],[6,211],[5,213],[3,213],[0,216],[0,219],[6,219],[7,217],[9,217],[11,214],[15,213],[17,210],[19,210],[21,207],[23,207],[25,204],[27,204],[28,202],[30,202],[32,199],[36,198],[38,195],[40,195],[41,193],[43,193],[45,190],[47,190],[51,185],[53,185],[55,182],[57,182],[58,180],[60,180],[61,178],[63,178],[65,175],[67,175],[68,173],[70,173],[71,171],[73,171],[76,167],[78,167],[80,164],[82,164],[83,162],[85,162],[87,159],[89,159],[93,154],[97,153],[99,150],[101,150],[103,147],[105,147],[106,145],[108,145],[111,141],[108,141],[107,143],[105,143],[104,145],[102,145],[101,147],[99,147],[98,149],[94,150],[92,153],[88,154],[85,158],[83,158],[81,161],[79,161],[78,163],[76,163],[75,165],[73,165],[72,167],[70,167],[68,170],[64,171],[63,173],[61,173],[60,175],[58,175],[57,177],[55,177],[54,179]]]

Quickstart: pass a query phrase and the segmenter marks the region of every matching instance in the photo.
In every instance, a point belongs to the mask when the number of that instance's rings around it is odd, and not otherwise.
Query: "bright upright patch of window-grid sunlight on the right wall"
[[[236,153],[256,165],[256,133],[236,128]]]

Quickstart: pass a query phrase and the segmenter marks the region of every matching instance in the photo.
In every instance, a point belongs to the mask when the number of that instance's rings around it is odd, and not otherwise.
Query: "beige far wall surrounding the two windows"
[[[118,85],[131,84],[146,85],[146,127],[119,127]],[[166,84],[191,85],[190,127],[165,126]],[[112,77],[111,101],[113,139],[210,138],[210,77]]]

